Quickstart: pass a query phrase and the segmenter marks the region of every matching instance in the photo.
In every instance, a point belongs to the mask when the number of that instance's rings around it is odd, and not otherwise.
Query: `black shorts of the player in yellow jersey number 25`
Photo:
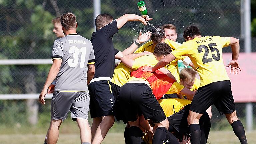
[[[230,80],[213,82],[200,87],[193,98],[190,110],[203,114],[213,104],[219,110],[220,115],[235,111]]]

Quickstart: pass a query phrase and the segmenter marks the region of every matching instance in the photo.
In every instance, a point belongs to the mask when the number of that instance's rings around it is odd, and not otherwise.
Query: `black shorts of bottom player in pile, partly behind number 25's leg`
[[[189,133],[188,129],[188,114],[189,114],[190,104],[186,105],[182,110],[179,112],[167,117],[169,121],[169,131],[170,132],[178,132],[179,134]],[[208,134],[211,128],[211,122],[209,115],[205,112],[201,118],[199,119],[200,129],[204,129],[206,133],[207,139]],[[203,131],[203,130],[202,130]]]

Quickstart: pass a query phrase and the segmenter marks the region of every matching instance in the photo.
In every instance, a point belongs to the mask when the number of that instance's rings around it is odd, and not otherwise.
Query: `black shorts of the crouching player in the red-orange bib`
[[[120,104],[128,121],[136,121],[143,114],[145,119],[154,123],[166,119],[164,111],[152,94],[150,87],[144,83],[126,83],[120,88]]]

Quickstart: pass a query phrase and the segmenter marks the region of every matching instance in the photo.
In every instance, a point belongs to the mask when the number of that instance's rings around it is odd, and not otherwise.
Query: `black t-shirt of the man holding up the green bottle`
[[[95,74],[93,78],[113,77],[115,55],[118,52],[112,42],[115,33],[118,33],[116,20],[92,33],[91,42],[95,55]]]

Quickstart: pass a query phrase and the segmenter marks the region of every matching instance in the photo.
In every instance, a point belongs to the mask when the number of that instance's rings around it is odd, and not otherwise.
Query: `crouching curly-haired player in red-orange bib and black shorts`
[[[124,114],[133,126],[139,115],[145,119],[151,119],[156,125],[153,143],[177,143],[177,139],[167,131],[169,122],[157,99],[168,91],[193,97],[194,93],[178,84],[168,70],[162,68],[156,73],[142,72],[143,66],[154,66],[160,59],[171,52],[166,43],[156,45],[153,55],[141,56],[141,54],[130,54],[121,58],[121,61],[130,68],[138,69],[132,72],[132,77],[120,88],[120,103]],[[138,58],[140,57],[140,58]],[[136,60],[134,60],[137,58]],[[169,76],[169,77],[168,77]],[[171,78],[170,78],[171,77]],[[153,93],[153,94],[152,94]]]

